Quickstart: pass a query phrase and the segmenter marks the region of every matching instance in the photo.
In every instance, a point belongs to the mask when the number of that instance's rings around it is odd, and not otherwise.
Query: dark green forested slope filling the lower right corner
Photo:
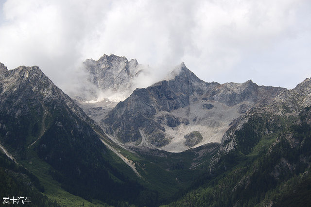
[[[295,121],[255,115],[200,185],[169,206],[310,206],[311,110]],[[245,141],[245,139],[252,141]]]

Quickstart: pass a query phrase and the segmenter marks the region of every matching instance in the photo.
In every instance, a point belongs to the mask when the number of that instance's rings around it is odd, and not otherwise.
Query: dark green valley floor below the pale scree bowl
[[[201,165],[208,166],[210,158],[219,146],[218,143],[211,143],[182,153],[157,150],[146,153],[125,150],[104,135],[102,135],[102,138],[119,153],[135,163],[137,171],[142,176],[142,179],[138,179],[135,175],[136,179],[148,189],[158,192],[159,203],[168,202],[179,191],[189,188],[192,182],[205,172]],[[212,150],[199,156],[198,151],[205,148]],[[194,160],[196,167],[191,168]]]

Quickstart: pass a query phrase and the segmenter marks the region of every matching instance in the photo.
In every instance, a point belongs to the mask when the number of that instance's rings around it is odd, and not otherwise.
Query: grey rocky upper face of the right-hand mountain
[[[267,87],[271,88],[272,87]],[[261,92],[260,105],[248,110],[239,119],[232,122],[230,129],[224,134],[220,146],[218,156],[216,156],[213,162],[217,162],[217,157],[229,153],[235,150],[239,145],[237,141],[237,132],[247,130],[252,122],[255,122],[258,126],[263,124],[260,133],[273,133],[281,127],[286,128],[284,123],[291,123],[298,117],[298,114],[304,107],[311,106],[311,79],[306,78],[302,83],[298,84],[294,89],[277,89],[271,90],[273,96],[268,98],[268,94]],[[273,98],[274,97],[274,98]],[[245,111],[245,106],[241,105],[241,110]],[[284,123],[280,123],[277,120],[284,120]],[[282,125],[283,124],[283,125]]]

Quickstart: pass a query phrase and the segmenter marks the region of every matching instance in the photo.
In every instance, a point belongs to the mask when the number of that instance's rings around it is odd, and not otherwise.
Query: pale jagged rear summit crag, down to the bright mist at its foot
[[[104,98],[111,102],[124,100],[135,89],[135,79],[143,73],[136,59],[128,61],[113,54],[104,54],[98,60],[86,59],[82,68],[87,77],[86,91],[76,91],[74,98],[92,103]]]

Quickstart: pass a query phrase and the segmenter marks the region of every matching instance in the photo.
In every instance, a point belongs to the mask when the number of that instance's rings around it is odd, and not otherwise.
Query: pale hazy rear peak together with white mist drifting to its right
[[[136,59],[127,60],[114,54],[104,54],[98,60],[86,59],[81,70],[79,86],[69,95],[86,103],[104,99],[118,103],[124,101],[136,88],[143,88],[163,80],[167,73],[158,74],[149,66],[138,64]]]

